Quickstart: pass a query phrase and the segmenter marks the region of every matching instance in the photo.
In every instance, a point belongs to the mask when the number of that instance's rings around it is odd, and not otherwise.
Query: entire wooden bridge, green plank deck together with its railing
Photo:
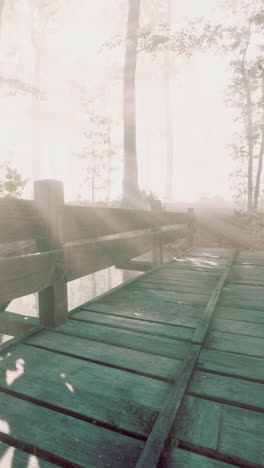
[[[40,322],[1,313],[1,468],[264,466],[264,252],[162,264],[192,213],[67,206],[55,182],[0,212],[37,250],[0,259],[2,309],[40,291]],[[68,314],[67,281],[109,265],[151,269]]]

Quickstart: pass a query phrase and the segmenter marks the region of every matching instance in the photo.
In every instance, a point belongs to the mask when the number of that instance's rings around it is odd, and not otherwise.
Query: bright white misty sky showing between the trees
[[[172,25],[197,15],[215,15],[219,3],[219,0],[171,1]],[[90,6],[85,0],[75,0],[68,5],[71,11],[65,15],[63,25],[46,40],[41,84],[47,90],[47,101],[40,103],[35,115],[42,121],[37,176],[64,180],[66,198],[74,199],[80,191],[83,197],[87,193],[81,185],[83,169],[74,157],[81,149],[81,134],[85,128],[76,84],[85,85],[97,108],[113,118],[114,143],[120,146],[122,142],[122,85],[115,78],[122,77],[123,52],[98,53],[98,50],[114,34],[124,33],[126,11],[123,16],[118,12],[116,0],[97,0]],[[6,63],[8,70],[9,60],[13,60],[19,76],[30,80],[34,62],[32,49],[26,43],[28,33],[25,27],[20,29],[19,34],[25,35],[26,45],[22,45],[21,37],[13,35],[15,27],[14,22],[13,29],[10,25],[3,30],[0,63]],[[16,54],[20,53],[21,57],[10,58],[8,51],[16,46]],[[224,59],[208,55],[185,65],[173,57],[171,61],[175,68],[171,77],[174,197],[190,201],[208,192],[231,198],[228,178],[232,162],[226,145],[232,137],[232,121],[223,101],[227,79]],[[166,157],[162,63],[162,59],[151,61],[142,56],[137,72],[140,183],[142,188],[161,197]],[[15,66],[10,65],[10,68]],[[14,161],[23,175],[32,177],[32,99],[1,95],[0,112],[1,159]],[[112,187],[113,196],[120,191],[121,176],[119,166]]]

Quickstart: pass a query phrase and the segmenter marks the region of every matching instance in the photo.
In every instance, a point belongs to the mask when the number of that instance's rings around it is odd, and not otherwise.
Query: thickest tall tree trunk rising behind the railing
[[[140,0],[129,0],[123,78],[124,178],[123,203],[135,206],[139,195],[136,149],[136,65]]]

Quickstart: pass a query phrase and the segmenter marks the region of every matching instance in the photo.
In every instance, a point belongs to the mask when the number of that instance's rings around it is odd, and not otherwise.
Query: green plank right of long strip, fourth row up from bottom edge
[[[198,367],[264,382],[264,360],[262,358],[203,349]]]

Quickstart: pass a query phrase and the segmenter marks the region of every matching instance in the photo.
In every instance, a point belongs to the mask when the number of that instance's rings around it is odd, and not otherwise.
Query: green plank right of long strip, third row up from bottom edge
[[[261,383],[196,371],[188,393],[264,410],[264,385]]]

